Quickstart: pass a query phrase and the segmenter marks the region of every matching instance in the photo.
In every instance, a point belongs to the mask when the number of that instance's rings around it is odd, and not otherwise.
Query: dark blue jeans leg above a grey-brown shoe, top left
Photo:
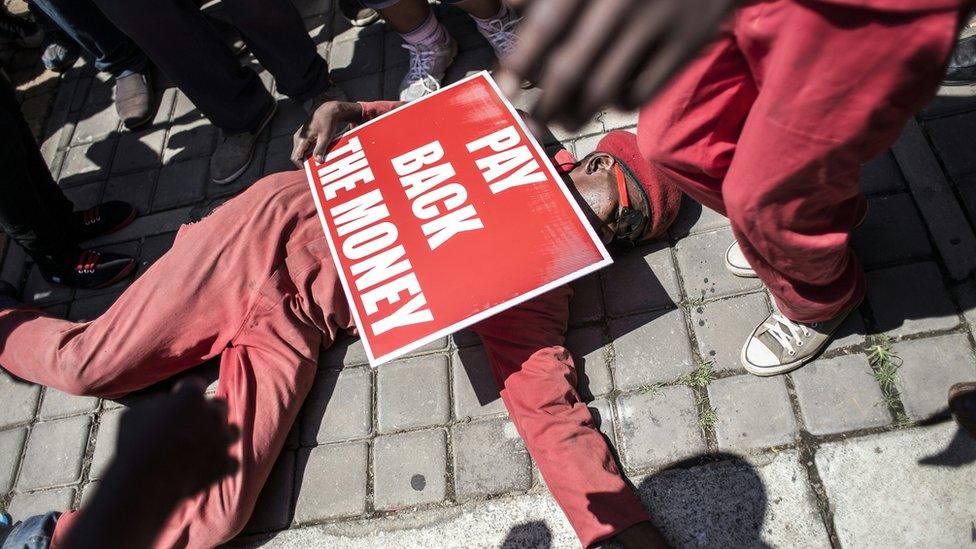
[[[119,76],[141,72],[146,55],[91,0],[33,0],[72,40],[95,58],[95,68]]]

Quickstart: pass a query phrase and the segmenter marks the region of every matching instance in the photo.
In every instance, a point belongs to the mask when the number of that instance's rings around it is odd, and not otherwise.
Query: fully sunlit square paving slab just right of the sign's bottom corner
[[[381,433],[446,423],[451,417],[447,355],[398,360],[376,372]]]

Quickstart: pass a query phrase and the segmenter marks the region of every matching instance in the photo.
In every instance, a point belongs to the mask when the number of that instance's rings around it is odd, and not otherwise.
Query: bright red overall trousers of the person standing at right
[[[935,93],[960,0],[747,2],[640,114],[641,152],[726,214],[785,315],[865,294],[848,245],[862,164]]]

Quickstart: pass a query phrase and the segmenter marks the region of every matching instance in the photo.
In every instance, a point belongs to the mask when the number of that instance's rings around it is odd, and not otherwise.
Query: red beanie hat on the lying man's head
[[[613,156],[627,166],[630,173],[647,193],[651,205],[647,229],[640,240],[657,238],[671,226],[681,205],[681,190],[670,178],[644,159],[637,148],[637,136],[625,131],[612,131],[603,136],[596,152]]]

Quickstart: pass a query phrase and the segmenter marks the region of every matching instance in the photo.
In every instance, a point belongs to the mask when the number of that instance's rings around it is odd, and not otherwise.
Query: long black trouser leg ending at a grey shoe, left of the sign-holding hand
[[[254,71],[238,63],[194,2],[95,3],[214,125],[228,132],[257,129],[268,112],[271,94]],[[274,11],[267,4],[264,7],[268,12]]]

